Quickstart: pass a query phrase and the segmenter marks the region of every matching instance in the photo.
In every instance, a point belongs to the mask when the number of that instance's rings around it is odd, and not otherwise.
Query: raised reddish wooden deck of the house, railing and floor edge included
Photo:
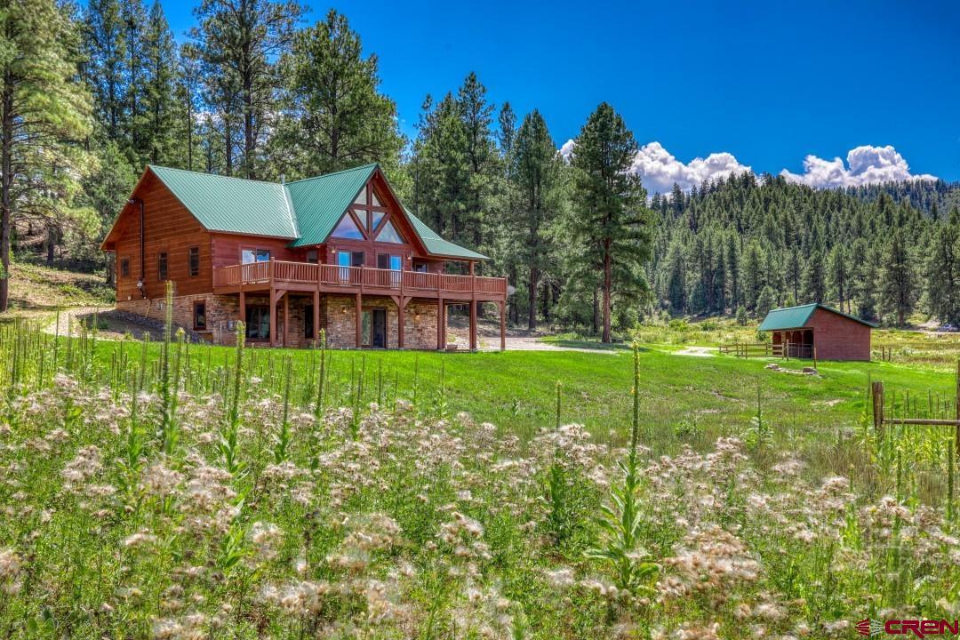
[[[338,267],[282,260],[213,269],[215,294],[269,290],[499,302],[507,298],[507,279],[484,275]]]

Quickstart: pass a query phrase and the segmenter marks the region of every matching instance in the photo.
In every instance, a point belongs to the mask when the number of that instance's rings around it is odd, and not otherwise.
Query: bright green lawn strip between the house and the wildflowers
[[[921,398],[924,404],[928,394],[952,397],[954,384],[952,375],[931,367],[821,362],[820,375],[802,376],[768,370],[766,360],[691,357],[675,354],[676,348],[648,344],[640,356],[641,421],[646,444],[657,453],[676,453],[685,444],[705,449],[718,436],[743,435],[756,416],[758,390],[761,416],[780,444],[806,450],[822,447],[827,435],[832,441],[838,433],[849,436],[862,427],[870,379],[882,380],[888,396],[896,394],[898,401],[909,390],[914,401]],[[140,347],[101,341],[96,349],[100,366],[107,369],[113,362],[137,360]],[[158,349],[158,344],[151,344],[148,359],[155,360]],[[295,403],[305,406],[316,395],[319,354],[251,348],[247,369],[256,385],[279,395],[283,362],[289,358],[294,370],[292,395]],[[416,400],[421,415],[468,412],[478,421],[492,422],[501,433],[527,440],[553,426],[559,382],[564,423],[582,423],[594,438],[617,444],[625,441],[629,430],[632,357],[622,345],[612,353],[328,351],[327,355],[324,392],[329,404],[353,406],[358,390],[362,404],[391,403],[400,397]],[[190,345],[188,357],[192,373],[187,386],[199,394],[218,391],[224,371],[232,367],[234,351]],[[804,362],[785,365],[800,368]],[[105,370],[101,375],[112,374]],[[829,464],[817,453],[809,452],[809,458]]]

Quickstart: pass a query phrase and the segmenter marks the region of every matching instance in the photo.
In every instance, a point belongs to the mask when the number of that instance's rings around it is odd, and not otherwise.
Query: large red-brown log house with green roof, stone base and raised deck
[[[404,208],[376,164],[293,182],[148,166],[102,249],[116,257],[117,308],[233,344],[446,347],[449,305],[499,309],[507,281]],[[447,273],[459,263],[461,273]]]

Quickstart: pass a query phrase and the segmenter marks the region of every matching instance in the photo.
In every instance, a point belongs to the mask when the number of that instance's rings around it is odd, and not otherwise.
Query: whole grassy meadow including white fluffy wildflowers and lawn
[[[419,353],[0,324],[0,636],[785,639],[960,614],[952,429],[881,435],[867,410],[882,380],[889,413],[953,412],[949,351],[816,376],[678,353],[737,331]]]

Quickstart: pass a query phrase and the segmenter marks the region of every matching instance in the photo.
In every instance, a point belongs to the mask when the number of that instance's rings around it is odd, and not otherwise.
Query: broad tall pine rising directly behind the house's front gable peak
[[[396,104],[379,92],[378,60],[333,10],[300,31],[280,61],[286,77],[275,154],[304,178],[368,162],[396,168],[402,138]]]

